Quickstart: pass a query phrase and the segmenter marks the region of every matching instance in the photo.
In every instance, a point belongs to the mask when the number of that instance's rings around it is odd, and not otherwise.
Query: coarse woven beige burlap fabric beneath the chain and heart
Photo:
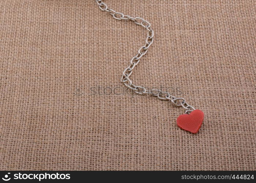
[[[132,79],[179,87],[201,130],[179,129],[183,110],[156,97],[90,91],[123,89],[142,27],[94,0],[0,0],[0,169],[255,170],[256,1],[105,3],[152,23]]]

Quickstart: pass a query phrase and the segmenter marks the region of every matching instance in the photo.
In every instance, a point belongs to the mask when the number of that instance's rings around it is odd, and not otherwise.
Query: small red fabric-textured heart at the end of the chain
[[[199,131],[204,120],[204,113],[198,109],[190,112],[190,114],[183,114],[177,118],[177,125],[183,130],[190,131],[195,134]]]

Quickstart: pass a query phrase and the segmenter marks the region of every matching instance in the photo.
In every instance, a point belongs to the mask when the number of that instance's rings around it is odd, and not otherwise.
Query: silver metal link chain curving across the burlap
[[[140,62],[140,59],[144,55],[146,55],[149,47],[152,45],[152,43],[154,41],[154,31],[151,28],[151,24],[148,21],[144,20],[143,18],[140,18],[140,17],[133,18],[129,15],[124,15],[123,13],[116,12],[115,10],[108,8],[108,5],[105,4],[103,2],[103,0],[96,0],[96,3],[99,5],[99,8],[101,11],[110,13],[110,15],[112,15],[115,19],[131,20],[134,23],[136,23],[137,25],[140,25],[147,30],[147,37],[145,40],[146,43],[143,46],[141,46],[140,49],[138,49],[138,54],[135,55],[134,57],[132,57],[132,59],[130,60],[129,66],[127,68],[125,68],[125,70],[123,71],[121,82],[126,87],[133,90],[134,93],[136,93],[136,94],[141,94],[141,95],[142,94],[150,94],[152,96],[158,97],[160,100],[169,100],[175,106],[184,108],[186,110],[185,113],[189,114],[190,112],[195,110],[195,108],[192,105],[189,105],[188,102],[186,102],[186,100],[184,98],[172,96],[167,91],[161,91],[159,89],[147,90],[143,86],[137,86],[137,85],[133,84],[133,82],[130,79],[133,69],[135,68],[135,66],[138,65],[138,63]]]

